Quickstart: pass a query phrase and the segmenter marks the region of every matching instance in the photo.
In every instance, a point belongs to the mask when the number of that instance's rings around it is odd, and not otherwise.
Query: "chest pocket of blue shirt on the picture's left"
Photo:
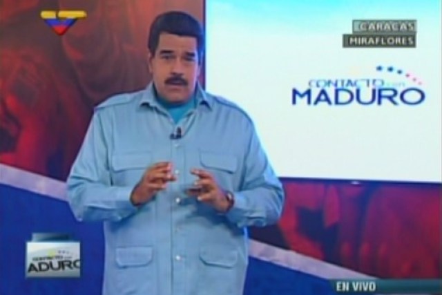
[[[152,154],[116,153],[111,160],[111,179],[116,186],[133,186],[152,164]]]

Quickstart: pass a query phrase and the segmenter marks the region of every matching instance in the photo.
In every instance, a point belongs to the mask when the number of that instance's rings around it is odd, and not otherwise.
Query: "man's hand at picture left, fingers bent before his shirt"
[[[155,196],[155,193],[166,189],[169,181],[177,178],[171,173],[172,164],[170,162],[160,162],[146,169],[140,182],[135,186],[131,194],[131,202],[135,206],[148,202]]]

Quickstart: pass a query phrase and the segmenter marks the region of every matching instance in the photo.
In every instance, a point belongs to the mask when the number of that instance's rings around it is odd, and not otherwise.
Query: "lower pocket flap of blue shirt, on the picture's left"
[[[118,247],[115,251],[115,260],[119,267],[148,265],[152,258],[152,247]]]

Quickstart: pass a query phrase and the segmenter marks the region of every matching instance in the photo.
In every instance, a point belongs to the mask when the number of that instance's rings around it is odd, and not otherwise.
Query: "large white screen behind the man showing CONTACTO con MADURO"
[[[441,183],[439,12],[439,1],[210,1],[206,89],[249,113],[280,177]],[[416,46],[343,47],[350,30]]]

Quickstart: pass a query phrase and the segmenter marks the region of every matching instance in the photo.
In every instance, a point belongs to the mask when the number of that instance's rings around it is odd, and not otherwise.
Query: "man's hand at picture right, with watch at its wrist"
[[[191,173],[200,179],[195,182],[195,189],[188,191],[189,196],[195,196],[198,201],[211,205],[217,211],[229,210],[231,204],[211,173],[201,169],[192,169]]]

